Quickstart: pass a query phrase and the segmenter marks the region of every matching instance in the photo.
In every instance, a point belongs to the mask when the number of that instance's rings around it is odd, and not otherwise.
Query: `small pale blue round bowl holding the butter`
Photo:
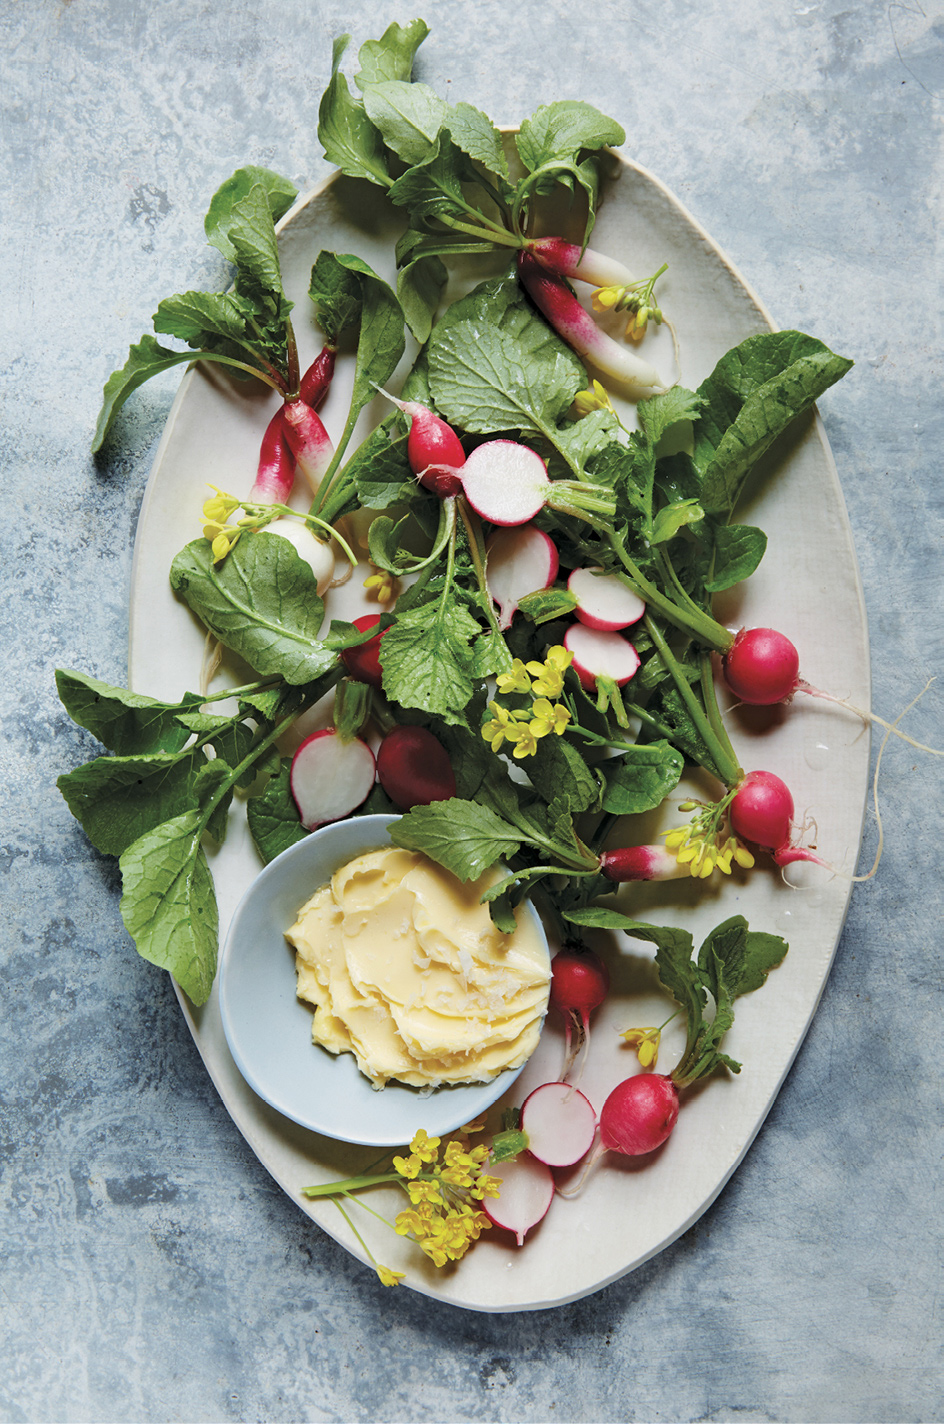
[[[303,1128],[369,1146],[401,1146],[418,1128],[454,1132],[485,1112],[521,1068],[490,1082],[377,1091],[353,1054],[312,1042],[312,1008],[296,998],[295,950],[285,937],[299,909],[336,870],[389,846],[396,816],[354,816],[312,832],[276,856],[236,907],[219,965],[219,1005],[229,1051],[249,1087]],[[531,904],[527,913],[545,938]],[[524,1067],[524,1065],[522,1065]]]

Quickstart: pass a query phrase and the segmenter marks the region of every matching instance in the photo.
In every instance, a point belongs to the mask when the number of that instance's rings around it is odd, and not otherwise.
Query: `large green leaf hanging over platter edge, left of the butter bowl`
[[[194,1004],[216,973],[218,913],[199,810],[139,836],[120,860],[121,917],[138,954],[169,970]]]

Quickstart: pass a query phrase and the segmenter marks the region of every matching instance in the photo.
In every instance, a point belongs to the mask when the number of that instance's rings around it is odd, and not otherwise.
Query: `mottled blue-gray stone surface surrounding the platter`
[[[394,17],[0,0],[0,1417],[939,1420],[941,763],[888,749],[881,873],[714,1206],[599,1294],[511,1317],[384,1290],[272,1183],[56,790],[95,746],[53,669],[124,679],[175,389],[145,387],[95,463],[101,384],[161,296],[219,281],[201,224],[233,167],[326,172],[330,40]],[[497,120],[564,97],[613,114],[774,319],[855,357],[821,412],[874,705],[895,715],[941,674],[938,0],[438,0],[427,19],[423,78]],[[941,743],[941,681],[909,728]]]

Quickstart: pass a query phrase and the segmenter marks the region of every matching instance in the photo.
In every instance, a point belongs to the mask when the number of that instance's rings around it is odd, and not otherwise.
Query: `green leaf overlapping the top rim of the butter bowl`
[[[404,850],[423,852],[460,880],[478,880],[522,843],[521,833],[488,806],[460,797],[414,806],[393,823],[390,839]]]

